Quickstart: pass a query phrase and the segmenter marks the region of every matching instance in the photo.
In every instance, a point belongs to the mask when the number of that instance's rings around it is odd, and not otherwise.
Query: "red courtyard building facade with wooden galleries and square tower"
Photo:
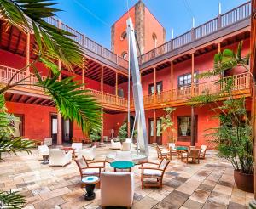
[[[157,124],[164,108],[172,106],[176,110],[172,115],[177,132],[174,138],[177,144],[189,145],[191,140],[191,108],[188,99],[209,90],[218,93],[213,79],[193,79],[193,75],[208,71],[213,66],[213,56],[224,48],[236,49],[243,41],[242,55],[250,49],[250,3],[244,3],[225,14],[192,28],[191,31],[166,42],[165,29],[139,1],[129,11],[137,31],[139,46],[143,55],[139,57],[143,84],[144,105],[148,128],[148,142],[166,144],[168,137],[160,134]],[[48,20],[64,30],[73,32],[75,40],[84,47],[84,60],[87,69],[74,66],[73,73],[61,65],[61,77],[75,76],[86,83],[86,88],[102,104],[102,137],[117,136],[119,127],[127,120],[127,40],[125,25],[128,14],[124,14],[112,26],[112,51],[84,37],[58,20]],[[33,35],[24,34],[15,27],[1,30],[0,42],[0,82],[5,84],[9,77],[21,67],[35,59],[31,53],[34,44]],[[48,75],[44,65],[38,64],[43,76]],[[31,73],[27,69],[26,73]],[[19,75],[20,77],[24,75]],[[251,78],[243,69],[228,71],[224,76],[234,76],[237,98],[247,99],[247,110],[251,108]],[[32,78],[33,79],[33,78]],[[132,91],[131,91],[132,97]],[[53,102],[41,89],[22,87],[6,93],[9,112],[20,116],[20,135],[25,138],[44,140],[55,138],[61,144],[72,137],[83,138],[79,127],[73,121],[65,121],[58,116]],[[221,102],[221,101],[220,101]],[[216,127],[219,121],[212,119],[210,110],[214,104],[195,108],[195,144],[209,144],[205,130]],[[131,111],[133,103],[131,101]]]

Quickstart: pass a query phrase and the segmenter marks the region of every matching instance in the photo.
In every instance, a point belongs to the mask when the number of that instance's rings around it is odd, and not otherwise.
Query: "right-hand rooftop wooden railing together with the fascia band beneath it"
[[[170,59],[192,48],[201,47],[220,37],[239,31],[250,25],[251,2],[243,3],[237,8],[224,13],[206,23],[192,28],[190,31],[165,42],[139,57],[141,69]]]

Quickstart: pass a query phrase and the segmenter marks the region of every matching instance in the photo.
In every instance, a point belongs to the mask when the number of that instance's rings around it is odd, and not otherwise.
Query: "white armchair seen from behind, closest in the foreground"
[[[133,172],[101,173],[102,206],[131,207],[134,195]]]

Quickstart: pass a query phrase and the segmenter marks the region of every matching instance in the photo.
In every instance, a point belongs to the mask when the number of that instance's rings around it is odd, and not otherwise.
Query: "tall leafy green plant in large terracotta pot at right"
[[[242,42],[238,45],[237,52],[224,49],[222,53],[214,56],[213,71],[201,73],[199,78],[218,76],[219,93],[211,94],[205,89],[205,94],[190,99],[190,105],[214,105],[212,110],[217,113],[219,127],[208,129],[217,146],[219,156],[230,161],[234,167],[234,178],[238,189],[253,192],[253,128],[252,121],[247,116],[246,99],[236,99],[233,91],[236,90],[232,76],[224,77],[224,71],[230,71],[240,66],[245,71],[248,69],[249,54],[241,58]],[[253,87],[255,88],[255,87]],[[220,99],[226,97],[224,102]],[[252,116],[253,119],[253,116]]]

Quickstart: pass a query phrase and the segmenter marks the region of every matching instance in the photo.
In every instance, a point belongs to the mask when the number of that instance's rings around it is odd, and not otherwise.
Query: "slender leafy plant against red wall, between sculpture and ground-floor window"
[[[176,110],[173,107],[167,107],[164,109],[164,116],[160,117],[160,124],[156,128],[160,129],[160,133],[166,133],[168,142],[176,142],[174,137],[176,129],[174,128],[174,122],[172,121],[172,112]]]

